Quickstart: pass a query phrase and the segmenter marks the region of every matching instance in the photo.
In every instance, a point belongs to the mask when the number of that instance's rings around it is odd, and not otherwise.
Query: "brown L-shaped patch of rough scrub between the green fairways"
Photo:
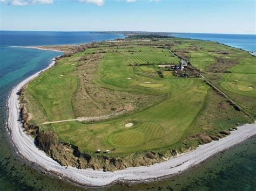
[[[79,84],[72,97],[72,107],[77,117],[102,116],[112,113],[113,110],[140,110],[165,97],[165,95],[140,95],[100,87],[93,83],[93,80],[95,79],[95,70],[102,55],[90,54],[86,58],[87,60],[76,63],[76,70],[73,73],[78,76]],[[126,80],[127,77],[124,77],[124,79]],[[133,109],[129,104],[132,105]]]

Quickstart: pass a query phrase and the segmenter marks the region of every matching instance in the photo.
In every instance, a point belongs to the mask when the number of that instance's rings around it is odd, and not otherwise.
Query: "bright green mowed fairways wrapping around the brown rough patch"
[[[132,48],[127,48],[129,49],[132,51]],[[52,124],[59,140],[75,144],[83,152],[93,153],[97,149],[107,150],[115,147],[115,153],[129,153],[171,147],[188,136],[187,130],[203,106],[208,87],[200,79],[182,79],[174,76],[160,79],[135,74],[129,66],[131,60],[137,63],[177,60],[170,56],[169,52],[161,52],[159,48],[140,49],[142,52],[133,54],[104,54],[104,58],[97,65],[93,83],[95,86],[114,91],[139,94],[141,98],[143,95],[166,95],[166,99],[161,103],[150,103],[152,107],[129,116],[104,122],[83,124],[74,121]],[[83,54],[75,54],[68,60]],[[157,69],[157,66],[151,67]],[[71,100],[77,88],[77,79],[73,76],[75,68],[76,66],[67,64],[63,59],[29,84],[28,92],[42,103],[52,121],[74,118]],[[127,77],[131,77],[131,80]],[[131,128],[125,128],[124,125],[130,120],[138,123]]]

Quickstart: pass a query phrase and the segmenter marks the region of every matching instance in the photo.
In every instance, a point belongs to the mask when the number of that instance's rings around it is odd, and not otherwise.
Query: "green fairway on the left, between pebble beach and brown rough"
[[[63,59],[58,66],[50,68],[29,83],[26,94],[32,95],[43,106],[42,112],[46,113],[49,121],[75,117],[70,99],[77,88],[77,77],[72,75],[75,69],[73,62]]]

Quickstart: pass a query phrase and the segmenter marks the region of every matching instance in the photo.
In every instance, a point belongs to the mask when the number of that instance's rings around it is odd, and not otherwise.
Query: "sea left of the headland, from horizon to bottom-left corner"
[[[90,32],[0,31],[0,190],[73,189],[69,182],[52,178],[31,167],[15,153],[9,140],[6,101],[11,89],[33,73],[44,69],[61,52],[11,46],[89,43],[124,38],[120,34]]]

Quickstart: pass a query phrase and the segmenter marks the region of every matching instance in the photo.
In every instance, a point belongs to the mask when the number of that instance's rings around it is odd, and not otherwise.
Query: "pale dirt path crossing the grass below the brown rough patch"
[[[122,111],[119,111],[119,112],[116,112],[116,113],[97,116],[97,117],[78,117],[76,119],[65,119],[65,120],[60,120],[60,121],[44,122],[42,124],[62,123],[62,122],[70,122],[70,121],[78,121],[78,122],[88,122],[88,121],[92,121],[92,120],[98,121],[100,119],[108,119],[108,118],[113,117],[113,116],[121,115],[124,112],[125,112],[125,110],[122,110]]]

